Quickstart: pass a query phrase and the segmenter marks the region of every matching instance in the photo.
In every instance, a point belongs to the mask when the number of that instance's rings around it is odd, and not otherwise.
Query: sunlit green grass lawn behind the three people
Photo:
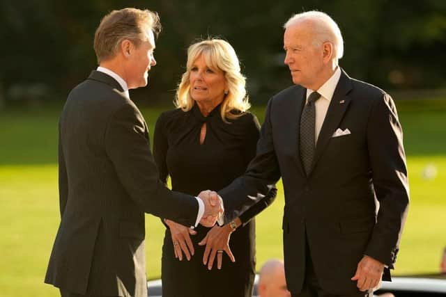
[[[434,273],[446,245],[446,100],[397,102],[405,131],[411,204],[395,274]],[[263,120],[263,107],[254,108]],[[1,296],[59,296],[43,284],[59,224],[57,120],[60,106],[0,113]],[[151,132],[162,109],[144,109]],[[426,166],[436,176],[424,177]],[[282,257],[282,185],[257,217],[257,263]],[[160,276],[164,227],[147,215],[149,278]],[[259,265],[257,268],[259,268]]]

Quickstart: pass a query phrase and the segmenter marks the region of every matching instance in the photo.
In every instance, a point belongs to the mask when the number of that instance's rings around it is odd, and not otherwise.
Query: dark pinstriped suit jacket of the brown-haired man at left
[[[93,71],[59,122],[61,223],[45,282],[76,294],[146,297],[144,212],[194,225],[198,203],[159,182],[143,116]]]

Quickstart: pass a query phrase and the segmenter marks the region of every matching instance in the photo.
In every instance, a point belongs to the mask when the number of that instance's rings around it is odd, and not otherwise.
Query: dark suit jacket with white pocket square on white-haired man
[[[351,278],[363,255],[389,268],[397,255],[409,200],[403,134],[390,95],[343,71],[306,176],[298,135],[306,92],[292,86],[268,102],[256,157],[245,175],[220,191],[225,219],[238,216],[282,177],[289,290],[302,289],[308,241],[321,287],[355,294]],[[338,128],[351,134],[332,137]],[[390,278],[388,270],[385,276]]]

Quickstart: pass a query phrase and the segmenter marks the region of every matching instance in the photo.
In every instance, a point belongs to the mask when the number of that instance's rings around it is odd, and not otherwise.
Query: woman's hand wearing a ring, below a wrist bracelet
[[[212,269],[217,254],[217,268],[222,268],[223,251],[229,256],[232,262],[236,262],[234,255],[232,255],[231,248],[229,248],[229,238],[231,237],[232,228],[229,225],[219,227],[215,225],[208,234],[200,241],[199,246],[206,244],[206,249],[203,255],[203,264],[208,264],[208,269]],[[219,252],[220,251],[220,252]]]

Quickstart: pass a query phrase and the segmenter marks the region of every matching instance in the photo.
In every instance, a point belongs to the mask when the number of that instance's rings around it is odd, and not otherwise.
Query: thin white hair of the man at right
[[[321,11],[306,11],[298,13],[289,18],[284,24],[284,29],[300,22],[311,22],[315,33],[315,42],[322,45],[323,42],[331,42],[333,45],[334,58],[339,60],[344,55],[344,40],[341,30],[334,20]]]

